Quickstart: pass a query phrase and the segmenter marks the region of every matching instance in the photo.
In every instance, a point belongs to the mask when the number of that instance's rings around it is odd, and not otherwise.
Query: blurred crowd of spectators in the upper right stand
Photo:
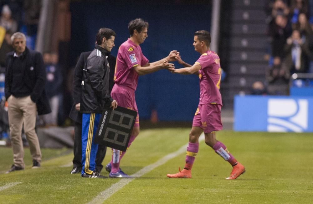
[[[293,73],[313,73],[313,1],[268,0],[269,92],[288,95]]]

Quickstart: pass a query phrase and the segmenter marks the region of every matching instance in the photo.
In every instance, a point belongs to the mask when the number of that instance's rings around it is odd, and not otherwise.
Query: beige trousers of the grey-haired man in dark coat
[[[29,143],[33,160],[41,162],[41,152],[37,134],[35,132],[37,106],[30,96],[8,98],[8,116],[10,126],[10,139],[13,148],[13,162],[17,167],[25,168],[23,161],[24,148],[22,142],[22,128]]]

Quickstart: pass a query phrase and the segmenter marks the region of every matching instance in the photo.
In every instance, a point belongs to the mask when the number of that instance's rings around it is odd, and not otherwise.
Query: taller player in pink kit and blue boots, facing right
[[[167,57],[149,63],[149,60],[142,54],[141,47],[139,46],[148,37],[148,22],[137,18],[128,24],[128,30],[131,37],[121,44],[117,53],[114,74],[115,85],[112,89],[111,96],[115,98],[119,106],[138,112],[135,101],[138,76],[150,74],[161,69],[175,68],[174,64],[168,62],[175,61],[175,57],[178,56],[178,54],[176,54],[177,51],[173,50]],[[137,115],[128,147],[138,134],[139,115]],[[109,177],[130,177],[119,168],[121,158],[124,156],[125,152],[112,149],[112,154],[111,162],[105,167],[105,169],[110,172]]]

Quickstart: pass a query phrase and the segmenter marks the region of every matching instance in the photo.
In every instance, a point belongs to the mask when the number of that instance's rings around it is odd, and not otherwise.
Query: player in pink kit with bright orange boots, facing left
[[[219,92],[221,83],[221,65],[218,55],[210,50],[211,35],[208,31],[197,31],[194,34],[193,46],[201,56],[192,66],[177,56],[177,62],[185,68],[170,68],[172,73],[197,74],[200,78],[200,100],[192,122],[183,170],[176,174],[167,174],[169,178],[191,178],[191,168],[199,150],[199,137],[204,132],[205,143],[223,159],[229,162],[233,171],[226,179],[236,179],[245,172],[242,164],[237,162],[226,146],[216,140],[215,132],[222,130],[221,107],[222,97]]]

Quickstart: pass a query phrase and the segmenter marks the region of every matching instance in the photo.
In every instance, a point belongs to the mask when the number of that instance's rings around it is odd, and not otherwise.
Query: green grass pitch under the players
[[[189,131],[141,131],[121,168],[133,174],[177,151],[187,144]],[[166,177],[183,168],[185,153],[181,153],[131,180],[103,203],[313,203],[313,134],[220,131],[217,139],[246,167],[238,179],[225,180],[231,166],[202,141],[192,179]],[[121,181],[69,174],[71,150],[42,149],[42,153],[41,168],[31,169],[29,149],[25,149],[26,169],[3,174],[12,165],[13,153],[11,148],[0,147],[0,203],[89,203]],[[109,149],[104,166],[110,157]],[[102,175],[108,173],[103,170]]]

